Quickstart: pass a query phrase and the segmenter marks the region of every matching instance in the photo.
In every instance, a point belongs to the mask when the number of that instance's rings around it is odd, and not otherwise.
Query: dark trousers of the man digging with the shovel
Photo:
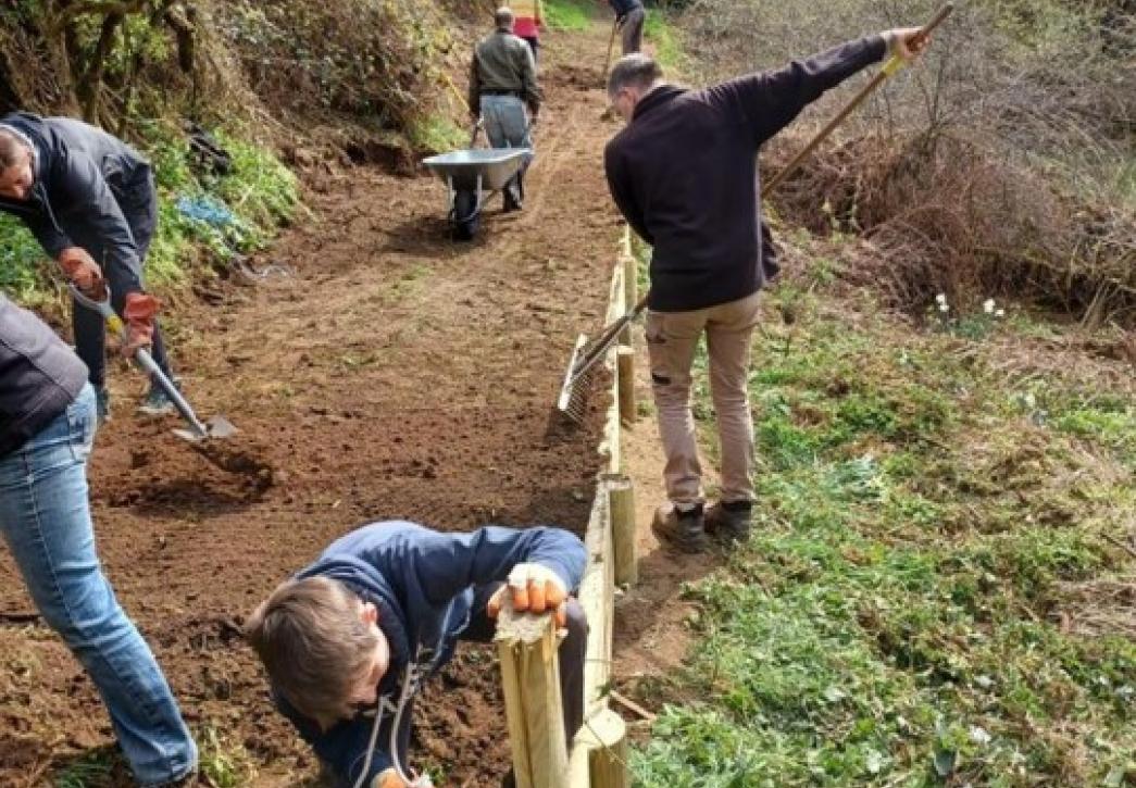
[[[150,241],[153,238],[153,232],[158,225],[158,194],[153,185],[153,173],[150,169],[142,173],[135,183],[131,184],[119,201],[119,207],[123,210],[123,216],[126,217],[126,224],[130,225],[131,235],[134,236],[134,245],[139,252],[137,263],[110,259],[109,252],[101,243],[92,243],[87,248],[87,252],[102,267],[102,274],[107,277],[112,293],[111,305],[116,312],[122,315],[126,293],[142,286],[142,263],[150,250]],[[107,329],[102,316],[73,300],[72,320],[75,332],[75,353],[86,364],[91,385],[101,388],[107,384]],[[157,321],[153,326],[153,344],[150,347],[150,354],[158,368],[169,377],[169,360],[166,357],[166,345],[161,339]]]

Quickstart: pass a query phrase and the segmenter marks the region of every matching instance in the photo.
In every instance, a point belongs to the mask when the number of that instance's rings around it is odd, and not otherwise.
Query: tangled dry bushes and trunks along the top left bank
[[[130,137],[181,118],[244,121],[278,143],[285,127],[402,133],[434,109],[453,12],[435,0],[0,3],[0,111]]]

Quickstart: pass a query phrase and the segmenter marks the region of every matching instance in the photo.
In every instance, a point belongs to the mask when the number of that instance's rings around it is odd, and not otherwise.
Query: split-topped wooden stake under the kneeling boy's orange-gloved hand
[[[560,644],[552,614],[517,614],[507,595],[494,639],[517,788],[567,788]]]

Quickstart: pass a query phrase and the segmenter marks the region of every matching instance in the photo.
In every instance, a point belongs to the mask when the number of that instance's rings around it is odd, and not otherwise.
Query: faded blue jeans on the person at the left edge
[[[44,621],[99,689],[135,779],[161,783],[197,768],[197,746],[99,565],[86,485],[94,425],[86,386],[66,413],[0,459],[0,530]]]

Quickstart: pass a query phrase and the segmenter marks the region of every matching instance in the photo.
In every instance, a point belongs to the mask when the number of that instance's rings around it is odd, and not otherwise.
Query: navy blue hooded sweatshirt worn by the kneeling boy
[[[417,685],[450,661],[469,626],[475,595],[484,598],[478,590],[504,581],[513,567],[527,562],[548,567],[575,592],[586,556],[580,540],[559,528],[486,526],[470,534],[442,534],[412,522],[375,522],[333,542],[296,579],[339,580],[378,609],[378,627],[391,647],[391,664],[378,686],[382,714],[396,705],[409,676]],[[374,714],[361,713],[323,731],[279,694],[276,703],[341,785],[353,786],[366,761]],[[400,751],[409,737],[409,720],[404,722]],[[382,724],[365,785],[393,764],[391,723]],[[398,756],[404,764],[406,753]]]

